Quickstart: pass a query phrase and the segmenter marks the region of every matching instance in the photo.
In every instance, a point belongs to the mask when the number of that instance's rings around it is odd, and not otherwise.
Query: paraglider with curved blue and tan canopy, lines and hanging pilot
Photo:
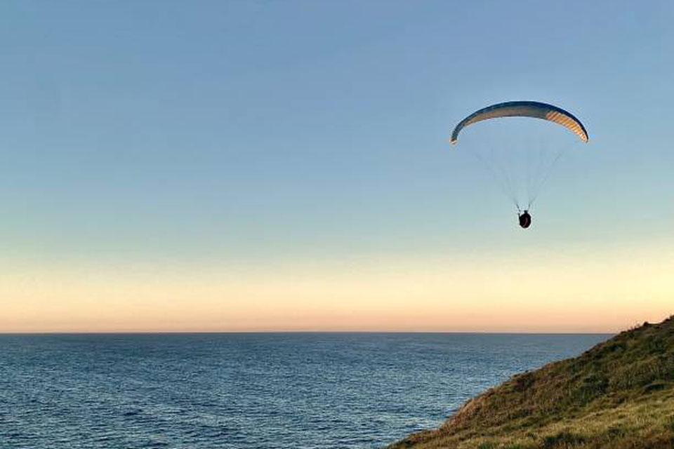
[[[560,107],[535,101],[510,101],[484,107],[465,117],[465,119],[461,120],[458,125],[456,125],[454,131],[451,133],[451,145],[456,145],[458,143],[458,136],[466,127],[480,121],[500,119],[502,117],[541,119],[563,126],[571,131],[571,133],[581,140],[581,142],[587,143],[589,140],[588,132],[583,123],[581,123],[576,116]],[[526,135],[529,130],[529,125],[527,125],[523,131],[524,135]],[[475,151],[475,154],[478,159],[487,166],[496,183],[500,185],[503,192],[509,196],[515,204],[520,227],[527,229],[531,226],[531,213],[529,211],[531,210],[532,204],[538,197],[538,193],[546,183],[546,180],[548,180],[548,175],[550,175],[553,167],[562,154],[564,154],[564,151],[571,142],[566,141],[569,140],[569,138],[566,137],[569,136],[569,134],[564,132],[562,133],[564,135],[561,136],[554,135],[554,133],[550,133],[550,129],[548,128],[546,128],[543,136],[543,140],[547,140],[545,145],[541,145],[540,142],[536,142],[535,144],[527,142],[526,139],[522,138],[520,135],[521,133],[514,133],[511,131],[512,130],[508,130],[505,134],[505,138],[496,139],[496,145],[488,146],[490,150],[489,154],[483,155],[478,151]],[[480,133],[477,134],[477,137],[484,137],[482,133],[484,133],[484,131],[481,130]],[[485,134],[487,135],[487,138],[494,139],[493,133]],[[525,137],[530,138],[531,136]],[[508,143],[505,142],[506,140],[508,140]],[[513,140],[514,142],[510,143],[510,141]],[[575,142],[578,142],[578,140],[575,140]],[[480,149],[479,142],[478,144],[475,144],[475,142],[472,143],[474,145],[471,146],[474,150]],[[482,142],[482,145],[484,146],[484,142]],[[508,145],[519,152],[523,152],[525,155],[524,160],[518,161],[514,166],[513,164],[508,166],[507,163],[498,159],[508,157],[508,154],[510,153]],[[495,151],[494,147],[496,147],[498,151]],[[546,154],[546,150],[550,147],[554,148],[554,150]],[[522,175],[522,173],[526,173],[526,176]],[[526,178],[526,182],[518,182],[521,181],[520,178]],[[526,196],[524,201],[521,199],[522,191],[525,192],[524,196]]]

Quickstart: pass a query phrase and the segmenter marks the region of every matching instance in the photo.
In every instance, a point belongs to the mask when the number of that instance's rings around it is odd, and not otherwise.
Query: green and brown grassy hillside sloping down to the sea
[[[674,316],[515,375],[389,448],[674,448]]]

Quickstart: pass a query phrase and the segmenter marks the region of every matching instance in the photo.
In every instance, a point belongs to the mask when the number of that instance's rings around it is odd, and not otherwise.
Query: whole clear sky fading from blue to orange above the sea
[[[661,321],[673,18],[670,1],[3,1],[0,332]],[[590,135],[526,231],[448,144],[508,100]]]

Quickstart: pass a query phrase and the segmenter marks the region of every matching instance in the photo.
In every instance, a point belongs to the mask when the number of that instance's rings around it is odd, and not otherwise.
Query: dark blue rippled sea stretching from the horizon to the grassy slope
[[[0,448],[376,448],[607,335],[0,335]]]

